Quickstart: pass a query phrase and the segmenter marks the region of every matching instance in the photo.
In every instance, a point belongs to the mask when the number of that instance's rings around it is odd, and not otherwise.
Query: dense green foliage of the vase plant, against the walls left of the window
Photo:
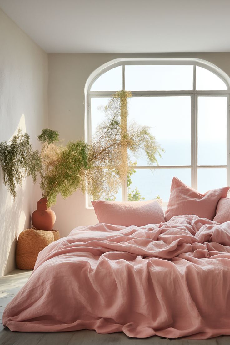
[[[78,188],[86,190],[86,171],[89,170],[89,145],[83,140],[69,142],[66,147],[53,144],[59,140],[58,132],[43,129],[38,136],[41,151],[33,150],[27,133],[21,129],[11,140],[0,142],[0,164],[3,183],[13,198],[17,185],[32,176],[33,182],[41,176],[42,197],[48,198],[48,206],[56,203],[60,193],[63,198],[72,195]]]

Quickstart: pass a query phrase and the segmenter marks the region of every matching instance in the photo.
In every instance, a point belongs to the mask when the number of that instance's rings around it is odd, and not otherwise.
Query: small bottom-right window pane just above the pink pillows
[[[198,191],[206,193],[210,189],[227,186],[227,169],[198,168]]]

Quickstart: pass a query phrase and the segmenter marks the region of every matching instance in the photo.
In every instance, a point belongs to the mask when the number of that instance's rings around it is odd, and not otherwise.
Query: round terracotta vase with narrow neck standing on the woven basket
[[[37,210],[32,213],[32,224],[38,230],[52,230],[56,215],[50,208],[47,208],[47,198],[37,202]]]

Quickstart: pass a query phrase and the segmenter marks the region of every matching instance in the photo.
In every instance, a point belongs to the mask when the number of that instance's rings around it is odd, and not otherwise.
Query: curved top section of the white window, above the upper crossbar
[[[98,73],[97,73],[98,72]],[[97,73],[97,74],[95,74]],[[217,66],[198,59],[111,61],[88,80],[90,91],[228,90],[229,77]]]

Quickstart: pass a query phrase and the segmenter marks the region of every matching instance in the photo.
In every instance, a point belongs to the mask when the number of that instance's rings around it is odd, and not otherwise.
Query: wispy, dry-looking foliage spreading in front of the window
[[[92,180],[100,183],[98,190],[97,184],[90,189],[94,200],[101,197],[113,200],[125,176],[130,178],[129,151],[134,157],[145,155],[149,165],[157,165],[157,155],[161,157],[163,152],[149,127],[129,121],[128,98],[131,96],[131,92],[118,91],[108,105],[101,108],[105,120],[97,127],[89,150],[93,167],[98,167]],[[129,193],[130,199],[143,199],[137,189]]]

